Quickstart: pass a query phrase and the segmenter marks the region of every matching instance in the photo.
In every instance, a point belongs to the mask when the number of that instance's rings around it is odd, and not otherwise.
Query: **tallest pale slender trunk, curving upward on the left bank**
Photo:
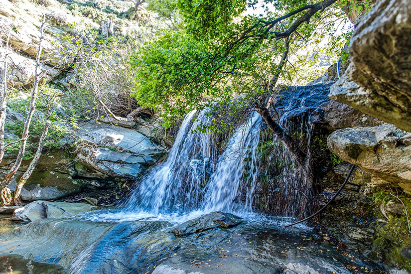
[[[31,90],[31,100],[30,100],[30,107],[28,110],[26,122],[24,123],[24,128],[23,128],[23,134],[21,136],[21,144],[20,144],[20,149],[18,151],[17,158],[14,162],[14,165],[10,168],[8,173],[4,176],[3,181],[0,183],[0,191],[3,192],[3,189],[6,188],[11,180],[14,178],[15,173],[17,172],[18,168],[21,165],[21,161],[23,160],[24,157],[24,152],[26,148],[26,143],[27,143],[27,138],[29,134],[29,128],[30,128],[30,123],[31,123],[31,118],[33,117],[34,110],[35,110],[35,101],[37,97],[37,91],[38,91],[38,84],[39,84],[39,67],[41,65],[40,63],[40,55],[41,51],[43,49],[41,42],[44,37],[44,23],[45,23],[45,15],[43,15],[43,21],[41,23],[41,33],[40,33],[40,40],[38,43],[38,49],[37,49],[37,57],[36,57],[36,66],[34,69],[34,85],[33,89]]]

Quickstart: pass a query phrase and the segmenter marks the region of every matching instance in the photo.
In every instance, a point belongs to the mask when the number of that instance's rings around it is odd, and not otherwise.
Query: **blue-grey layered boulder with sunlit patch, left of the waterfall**
[[[100,146],[84,148],[78,155],[80,164],[95,170],[93,178],[136,177],[164,152],[164,148],[132,129],[99,123],[84,123],[80,128],[80,137]],[[87,170],[77,172],[84,177],[90,175]]]

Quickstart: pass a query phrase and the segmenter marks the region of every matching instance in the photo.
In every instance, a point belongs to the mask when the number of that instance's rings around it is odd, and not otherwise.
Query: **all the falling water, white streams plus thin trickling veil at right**
[[[302,146],[307,147],[308,159],[312,128],[309,116],[328,100],[328,90],[326,85],[295,87],[283,92],[275,104],[280,114],[279,124],[288,134],[301,138]],[[208,111],[201,111],[196,119],[196,111],[187,114],[167,160],[137,184],[120,211],[100,214],[95,220],[150,217],[183,222],[211,211],[248,215],[254,206],[253,200],[277,216],[301,217],[312,212],[309,160],[307,166],[299,167],[279,139],[269,134],[274,148],[268,163],[262,166],[261,117],[257,112],[238,127],[225,150],[213,158],[211,151],[215,145],[211,134],[196,131],[199,125],[210,123]],[[262,182],[261,169],[269,181]]]

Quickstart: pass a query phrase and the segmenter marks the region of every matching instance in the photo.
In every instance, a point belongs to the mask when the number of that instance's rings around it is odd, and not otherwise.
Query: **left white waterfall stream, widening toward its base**
[[[167,160],[155,167],[137,186],[126,210],[143,210],[153,215],[198,207],[201,185],[210,160],[211,134],[193,133],[210,121],[203,110],[191,124],[196,111],[188,113],[177,133]],[[190,126],[191,125],[191,126]]]

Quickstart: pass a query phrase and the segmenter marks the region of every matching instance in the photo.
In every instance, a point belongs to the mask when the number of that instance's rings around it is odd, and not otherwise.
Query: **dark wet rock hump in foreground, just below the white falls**
[[[194,220],[182,223],[170,232],[176,237],[183,237],[217,227],[234,227],[242,222],[243,220],[240,217],[233,214],[215,211]]]

